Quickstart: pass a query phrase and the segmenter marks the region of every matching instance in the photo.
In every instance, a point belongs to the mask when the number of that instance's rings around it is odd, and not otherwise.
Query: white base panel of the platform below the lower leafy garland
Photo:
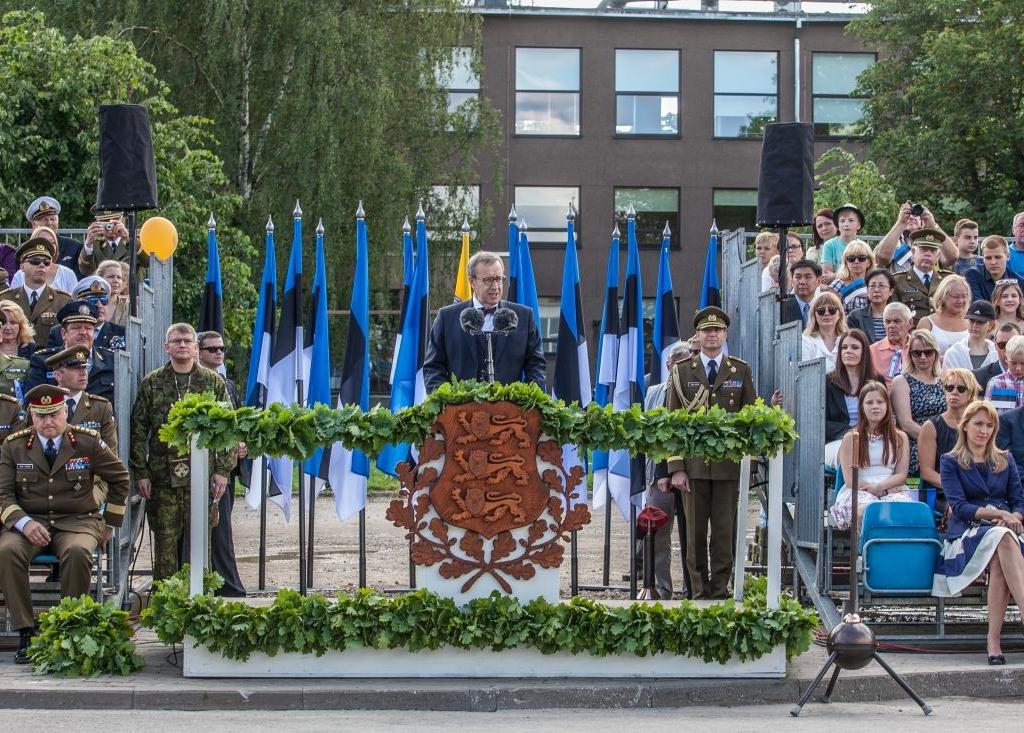
[[[409,652],[403,649],[349,649],[314,654],[253,654],[246,661],[226,659],[184,641],[185,677],[238,678],[771,678],[785,676],[785,647],[755,661],[705,662],[689,656],[591,656],[542,654],[536,649],[502,652],[437,649]]]

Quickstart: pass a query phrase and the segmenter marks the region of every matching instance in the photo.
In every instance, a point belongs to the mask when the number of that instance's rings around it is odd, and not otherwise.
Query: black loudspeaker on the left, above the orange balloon
[[[96,209],[157,208],[157,165],[150,111],[141,104],[99,105],[99,185]]]

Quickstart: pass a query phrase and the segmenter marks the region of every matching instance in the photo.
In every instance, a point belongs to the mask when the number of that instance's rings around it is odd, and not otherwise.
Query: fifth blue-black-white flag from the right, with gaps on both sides
[[[577,260],[575,212],[569,207],[565,215],[565,264],[562,265],[562,306],[558,318],[558,346],[555,353],[555,397],[565,403],[579,402],[581,407],[590,404],[590,354],[587,351],[587,333],[583,317],[583,299],[580,297],[580,263]],[[580,449],[575,445],[562,445],[562,466],[568,473],[573,466],[582,466]],[[573,504],[587,503],[587,484],[577,486],[580,494]]]

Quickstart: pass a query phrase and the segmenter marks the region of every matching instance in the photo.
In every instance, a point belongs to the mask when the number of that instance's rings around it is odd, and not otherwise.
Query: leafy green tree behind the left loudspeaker
[[[68,39],[42,13],[0,18],[0,217],[24,221],[40,193],[60,202],[61,223],[87,224],[98,176],[97,104],[145,104],[153,122],[161,209],[174,222],[174,312],[196,322],[206,271],[206,221],[238,215],[223,164],[212,150],[212,124],[182,116],[170,90],[128,41],[95,36]],[[148,214],[144,214],[143,217]],[[141,222],[140,222],[141,223]],[[241,349],[251,341],[255,305],[250,263],[255,249],[243,231],[220,228],[226,338]]]

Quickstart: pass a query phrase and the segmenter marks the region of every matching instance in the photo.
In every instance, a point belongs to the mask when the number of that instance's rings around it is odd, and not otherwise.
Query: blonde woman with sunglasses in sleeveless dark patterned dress
[[[946,394],[939,379],[939,345],[931,332],[919,329],[908,339],[909,363],[891,387],[893,412],[910,439],[910,475],[916,476],[918,435],[926,420],[946,409]]]

